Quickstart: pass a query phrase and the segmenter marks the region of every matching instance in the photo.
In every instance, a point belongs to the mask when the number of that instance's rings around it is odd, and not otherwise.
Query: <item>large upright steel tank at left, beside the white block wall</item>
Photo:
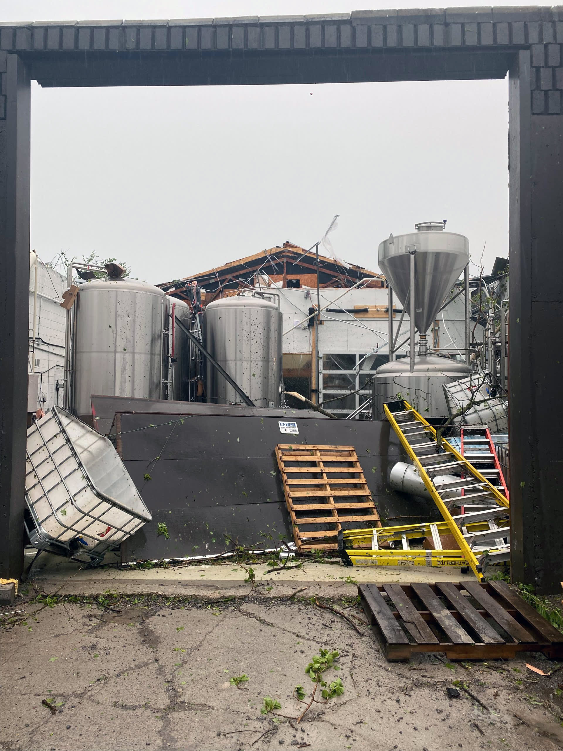
[[[92,394],[161,399],[164,292],[137,279],[92,279],[75,308],[74,414],[91,420]]]

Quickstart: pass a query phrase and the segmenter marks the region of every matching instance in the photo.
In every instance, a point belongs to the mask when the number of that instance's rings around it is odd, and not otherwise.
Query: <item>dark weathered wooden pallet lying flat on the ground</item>
[[[563,658],[563,634],[504,581],[360,584],[364,611],[388,660],[417,652],[450,659]]]

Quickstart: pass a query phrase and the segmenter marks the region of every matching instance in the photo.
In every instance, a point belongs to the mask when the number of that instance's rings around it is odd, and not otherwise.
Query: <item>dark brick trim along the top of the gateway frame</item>
[[[530,49],[531,110],[561,114],[563,7],[435,8],[173,20],[0,23],[0,50],[24,54],[195,55]],[[5,92],[0,71],[0,118]]]

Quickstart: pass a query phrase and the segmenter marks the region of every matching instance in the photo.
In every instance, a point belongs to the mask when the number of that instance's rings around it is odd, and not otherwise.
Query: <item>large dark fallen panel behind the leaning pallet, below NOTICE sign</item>
[[[404,458],[387,422],[296,418],[297,436],[280,433],[279,418],[116,415],[116,445],[153,515],[122,546],[122,559],[220,553],[225,535],[239,544],[293,539],[274,448],[278,443],[353,445],[383,520],[438,518],[432,502],[390,491],[390,466]],[[156,457],[159,457],[156,460]],[[150,476],[150,479],[146,478]],[[167,524],[170,538],[158,535]],[[266,546],[267,547],[267,546]],[[275,547],[269,541],[269,547]]]

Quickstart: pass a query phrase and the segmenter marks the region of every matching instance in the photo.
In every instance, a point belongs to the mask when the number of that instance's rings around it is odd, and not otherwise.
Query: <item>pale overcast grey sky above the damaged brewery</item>
[[[0,0],[0,20],[338,13],[349,2]],[[490,270],[508,252],[507,183],[506,80],[32,89],[32,247],[44,260],[115,255],[149,282],[284,240],[309,247],[335,214],[333,246],[352,263],[376,270],[390,232],[447,219],[477,263],[486,244]]]

